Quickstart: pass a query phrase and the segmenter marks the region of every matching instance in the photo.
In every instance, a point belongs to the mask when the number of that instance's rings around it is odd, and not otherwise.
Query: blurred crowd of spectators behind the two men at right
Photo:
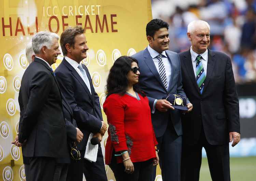
[[[231,57],[237,84],[256,82],[256,0],[152,0],[153,18],[169,23],[170,50],[186,51],[190,21],[210,24],[210,49]]]

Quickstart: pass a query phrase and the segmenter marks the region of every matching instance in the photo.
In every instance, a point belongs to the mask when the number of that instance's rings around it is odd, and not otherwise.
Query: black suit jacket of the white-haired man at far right
[[[203,127],[210,144],[226,144],[230,131],[240,132],[238,95],[230,58],[208,49],[207,75],[201,95],[190,50],[179,56],[183,88],[193,104],[193,110],[182,119],[184,143],[197,143]]]

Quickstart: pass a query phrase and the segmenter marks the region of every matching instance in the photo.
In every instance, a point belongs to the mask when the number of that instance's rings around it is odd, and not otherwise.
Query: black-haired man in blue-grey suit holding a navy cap
[[[139,84],[146,93],[152,110],[162,179],[180,181],[182,145],[180,111],[174,109],[163,97],[168,94],[182,96],[186,94],[182,88],[179,56],[175,52],[168,51],[170,41],[168,27],[168,23],[160,19],[153,19],[147,23],[146,35],[149,45],[133,57],[139,62]],[[161,58],[158,58],[159,56]],[[188,103],[187,106],[188,111],[191,111],[192,104]],[[155,175],[154,171],[152,181],[155,180]]]

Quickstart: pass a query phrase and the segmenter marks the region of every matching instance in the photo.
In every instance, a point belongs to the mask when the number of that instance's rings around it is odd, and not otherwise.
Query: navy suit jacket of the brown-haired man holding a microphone
[[[89,71],[85,65],[82,66],[90,82],[91,94],[83,79],[65,58],[55,70],[55,74],[62,94],[73,110],[77,126],[84,134],[77,147],[85,150],[90,132],[96,133],[101,129],[102,114],[99,96],[94,90]]]

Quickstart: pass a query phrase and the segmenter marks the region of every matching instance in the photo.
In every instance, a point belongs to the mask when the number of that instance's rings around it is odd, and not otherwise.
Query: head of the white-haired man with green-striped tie
[[[205,52],[210,45],[210,25],[202,20],[191,21],[187,26],[187,37],[194,52]]]

